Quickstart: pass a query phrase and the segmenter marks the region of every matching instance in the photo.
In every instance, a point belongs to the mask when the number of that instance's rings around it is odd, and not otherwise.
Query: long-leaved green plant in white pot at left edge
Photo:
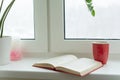
[[[10,49],[11,49],[11,37],[10,36],[3,36],[4,32],[4,22],[5,19],[14,4],[15,0],[12,0],[6,9],[1,13],[4,0],[1,0],[0,3],[0,65],[7,64],[10,61]]]

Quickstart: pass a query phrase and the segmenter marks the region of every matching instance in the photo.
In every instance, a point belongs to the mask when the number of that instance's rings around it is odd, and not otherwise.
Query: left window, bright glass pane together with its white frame
[[[16,0],[7,18],[4,34],[20,35],[27,56],[48,51],[47,0]]]

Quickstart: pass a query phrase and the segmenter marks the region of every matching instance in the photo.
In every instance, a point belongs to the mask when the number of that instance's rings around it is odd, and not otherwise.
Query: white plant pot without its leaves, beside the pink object
[[[0,38],[0,66],[10,62],[11,37]]]

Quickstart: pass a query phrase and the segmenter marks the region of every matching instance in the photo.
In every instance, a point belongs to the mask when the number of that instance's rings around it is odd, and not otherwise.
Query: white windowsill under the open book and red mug
[[[120,61],[109,60],[108,63],[85,77],[74,76],[52,70],[32,67],[40,58],[25,58],[13,61],[8,65],[0,66],[0,78],[25,78],[25,79],[52,79],[52,80],[119,80]]]

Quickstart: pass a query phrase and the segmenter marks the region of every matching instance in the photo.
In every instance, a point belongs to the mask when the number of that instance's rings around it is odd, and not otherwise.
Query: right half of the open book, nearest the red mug
[[[101,66],[101,62],[94,61],[93,59],[88,58],[80,58],[67,64],[61,64],[60,66],[57,66],[56,69],[83,76]]]

